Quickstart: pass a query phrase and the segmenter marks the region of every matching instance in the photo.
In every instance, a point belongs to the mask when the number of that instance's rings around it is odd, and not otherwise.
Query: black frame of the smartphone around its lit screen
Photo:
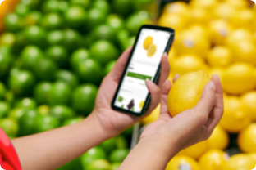
[[[117,87],[117,91],[115,92],[115,95],[113,96],[112,104],[111,104],[112,110],[117,110],[117,111],[119,111],[121,113],[132,114],[132,115],[136,115],[136,116],[142,116],[142,115],[145,114],[146,110],[149,107],[149,103],[151,101],[150,93],[148,93],[148,95],[146,97],[146,100],[144,102],[144,107],[143,107],[143,109],[141,110],[140,113],[137,113],[137,112],[134,112],[134,111],[131,111],[131,110],[126,110],[126,109],[123,109],[121,107],[117,107],[115,105],[115,102],[117,100],[117,95],[118,95],[118,93],[120,91],[121,83],[123,82],[123,80],[124,80],[124,78],[126,76],[126,70],[128,69],[128,67],[130,65],[130,60],[131,60],[131,58],[132,58],[132,56],[134,54],[135,47],[136,47],[137,42],[139,40],[139,35],[141,34],[141,30],[142,29],[155,29],[155,30],[161,30],[161,31],[170,32],[170,38],[168,39],[167,47],[164,50],[164,52],[167,52],[167,54],[168,54],[168,52],[171,49],[171,43],[173,42],[174,34],[175,34],[174,29],[167,28],[167,27],[161,27],[161,26],[157,26],[157,25],[143,25],[139,29],[139,33],[137,34],[137,36],[135,38],[135,45],[133,46],[132,51],[130,52],[130,56],[129,56],[128,60],[127,60],[126,67],[125,67],[125,69],[124,69],[124,71],[123,71],[123,73],[121,75],[120,82],[119,82],[118,87]],[[161,71],[161,62],[159,63],[157,73],[156,73],[156,75],[153,78],[153,83],[157,83],[158,82],[158,78],[160,76],[160,71]]]

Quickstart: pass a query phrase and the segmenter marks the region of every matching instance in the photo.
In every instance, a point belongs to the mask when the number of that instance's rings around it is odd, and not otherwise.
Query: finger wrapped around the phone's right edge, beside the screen
[[[162,87],[162,84],[167,80],[169,73],[170,73],[170,65],[169,65],[167,53],[165,52],[162,55],[162,59],[161,59],[161,73],[158,81],[158,86],[160,88]]]

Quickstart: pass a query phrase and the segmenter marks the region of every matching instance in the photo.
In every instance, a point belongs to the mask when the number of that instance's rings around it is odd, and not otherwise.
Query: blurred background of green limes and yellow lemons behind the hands
[[[84,119],[139,27],[161,25],[176,30],[170,80],[203,69],[219,75],[225,92],[224,114],[212,136],[182,150],[167,170],[249,170],[256,166],[255,16],[253,0],[4,0],[0,127],[15,138]],[[159,106],[137,128],[58,169],[117,169],[131,141],[158,116]],[[226,163],[233,168],[224,169]]]

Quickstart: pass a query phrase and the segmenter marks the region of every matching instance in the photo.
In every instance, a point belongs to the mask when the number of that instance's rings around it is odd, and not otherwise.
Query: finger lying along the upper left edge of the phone
[[[114,80],[119,80],[121,78],[121,74],[123,73],[123,71],[126,67],[127,60],[130,56],[131,49],[132,49],[132,47],[129,47],[126,49],[126,51],[124,51],[121,54],[121,56],[117,60],[116,65],[114,66],[112,71],[107,76],[109,76],[110,78],[112,78]]]

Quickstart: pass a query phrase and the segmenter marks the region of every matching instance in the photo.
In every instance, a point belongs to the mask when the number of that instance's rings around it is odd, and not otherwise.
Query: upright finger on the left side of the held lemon
[[[168,105],[167,105],[167,98],[169,91],[171,89],[171,82],[170,80],[166,80],[165,83],[162,85],[162,94],[161,94],[161,107],[160,107],[160,118],[164,120],[171,119],[171,114],[169,114]]]

